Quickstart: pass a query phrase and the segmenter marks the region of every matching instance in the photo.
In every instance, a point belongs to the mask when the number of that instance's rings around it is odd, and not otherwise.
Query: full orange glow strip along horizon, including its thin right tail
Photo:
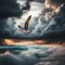
[[[48,40],[22,40],[22,39],[3,39],[3,46],[35,46],[35,44],[46,44],[46,46],[65,46],[65,42],[52,42]]]

